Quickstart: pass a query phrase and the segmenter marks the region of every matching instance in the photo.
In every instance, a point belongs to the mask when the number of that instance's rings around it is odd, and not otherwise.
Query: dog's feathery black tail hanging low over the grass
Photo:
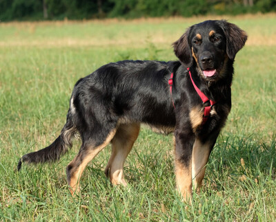
[[[77,129],[75,124],[73,124],[72,114],[68,111],[66,124],[63,126],[59,137],[57,137],[57,139],[50,144],[50,146],[47,146],[37,152],[23,155],[23,157],[19,159],[17,170],[20,170],[22,162],[28,164],[42,164],[45,162],[57,161],[61,155],[64,155],[68,151],[68,148],[72,147],[72,137],[76,133]]]

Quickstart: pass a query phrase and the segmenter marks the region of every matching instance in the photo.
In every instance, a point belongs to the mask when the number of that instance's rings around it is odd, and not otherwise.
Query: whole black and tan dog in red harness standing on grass
[[[72,195],[87,164],[110,142],[105,173],[127,186],[124,162],[140,124],[174,133],[175,177],[184,201],[201,188],[206,163],[231,109],[235,55],[247,35],[228,21],[204,21],[172,43],[177,61],[123,60],[103,65],[75,84],[66,124],[50,146],[23,155],[24,163],[57,161],[79,133],[79,153],[66,168]]]

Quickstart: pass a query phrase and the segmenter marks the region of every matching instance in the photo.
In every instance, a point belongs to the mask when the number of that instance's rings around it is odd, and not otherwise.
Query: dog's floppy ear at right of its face
[[[233,23],[222,20],[221,24],[226,35],[226,53],[231,60],[234,60],[239,49],[246,43],[247,34]]]

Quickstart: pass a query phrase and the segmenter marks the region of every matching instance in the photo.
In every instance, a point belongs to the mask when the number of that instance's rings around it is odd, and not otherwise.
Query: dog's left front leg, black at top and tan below
[[[190,203],[192,197],[192,153],[195,136],[193,133],[175,131],[175,178],[177,189],[184,201]]]

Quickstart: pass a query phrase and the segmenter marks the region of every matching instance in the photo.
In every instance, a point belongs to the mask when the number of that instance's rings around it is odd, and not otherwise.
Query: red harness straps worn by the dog
[[[193,83],[195,91],[197,91],[197,94],[201,98],[201,100],[203,102],[203,105],[204,105],[204,115],[203,115],[203,119],[202,119],[202,123],[201,123],[201,125],[203,125],[208,120],[208,118],[210,116],[210,111],[211,111],[213,105],[215,104],[215,101],[210,100],[207,96],[205,96],[205,94],[203,92],[200,91],[200,89],[197,87],[197,85],[195,85],[195,82],[194,82],[194,80],[192,78],[192,74],[190,73],[190,68],[187,68],[187,70],[189,71],[190,80]],[[172,84],[173,84],[172,78],[173,78],[173,73],[170,74],[170,79],[168,80],[168,85],[170,86],[170,96],[171,97],[172,97]],[[206,102],[210,102],[210,106],[206,105]],[[173,105],[173,107],[175,107],[175,103],[173,102],[173,100],[172,100],[172,105]]]

